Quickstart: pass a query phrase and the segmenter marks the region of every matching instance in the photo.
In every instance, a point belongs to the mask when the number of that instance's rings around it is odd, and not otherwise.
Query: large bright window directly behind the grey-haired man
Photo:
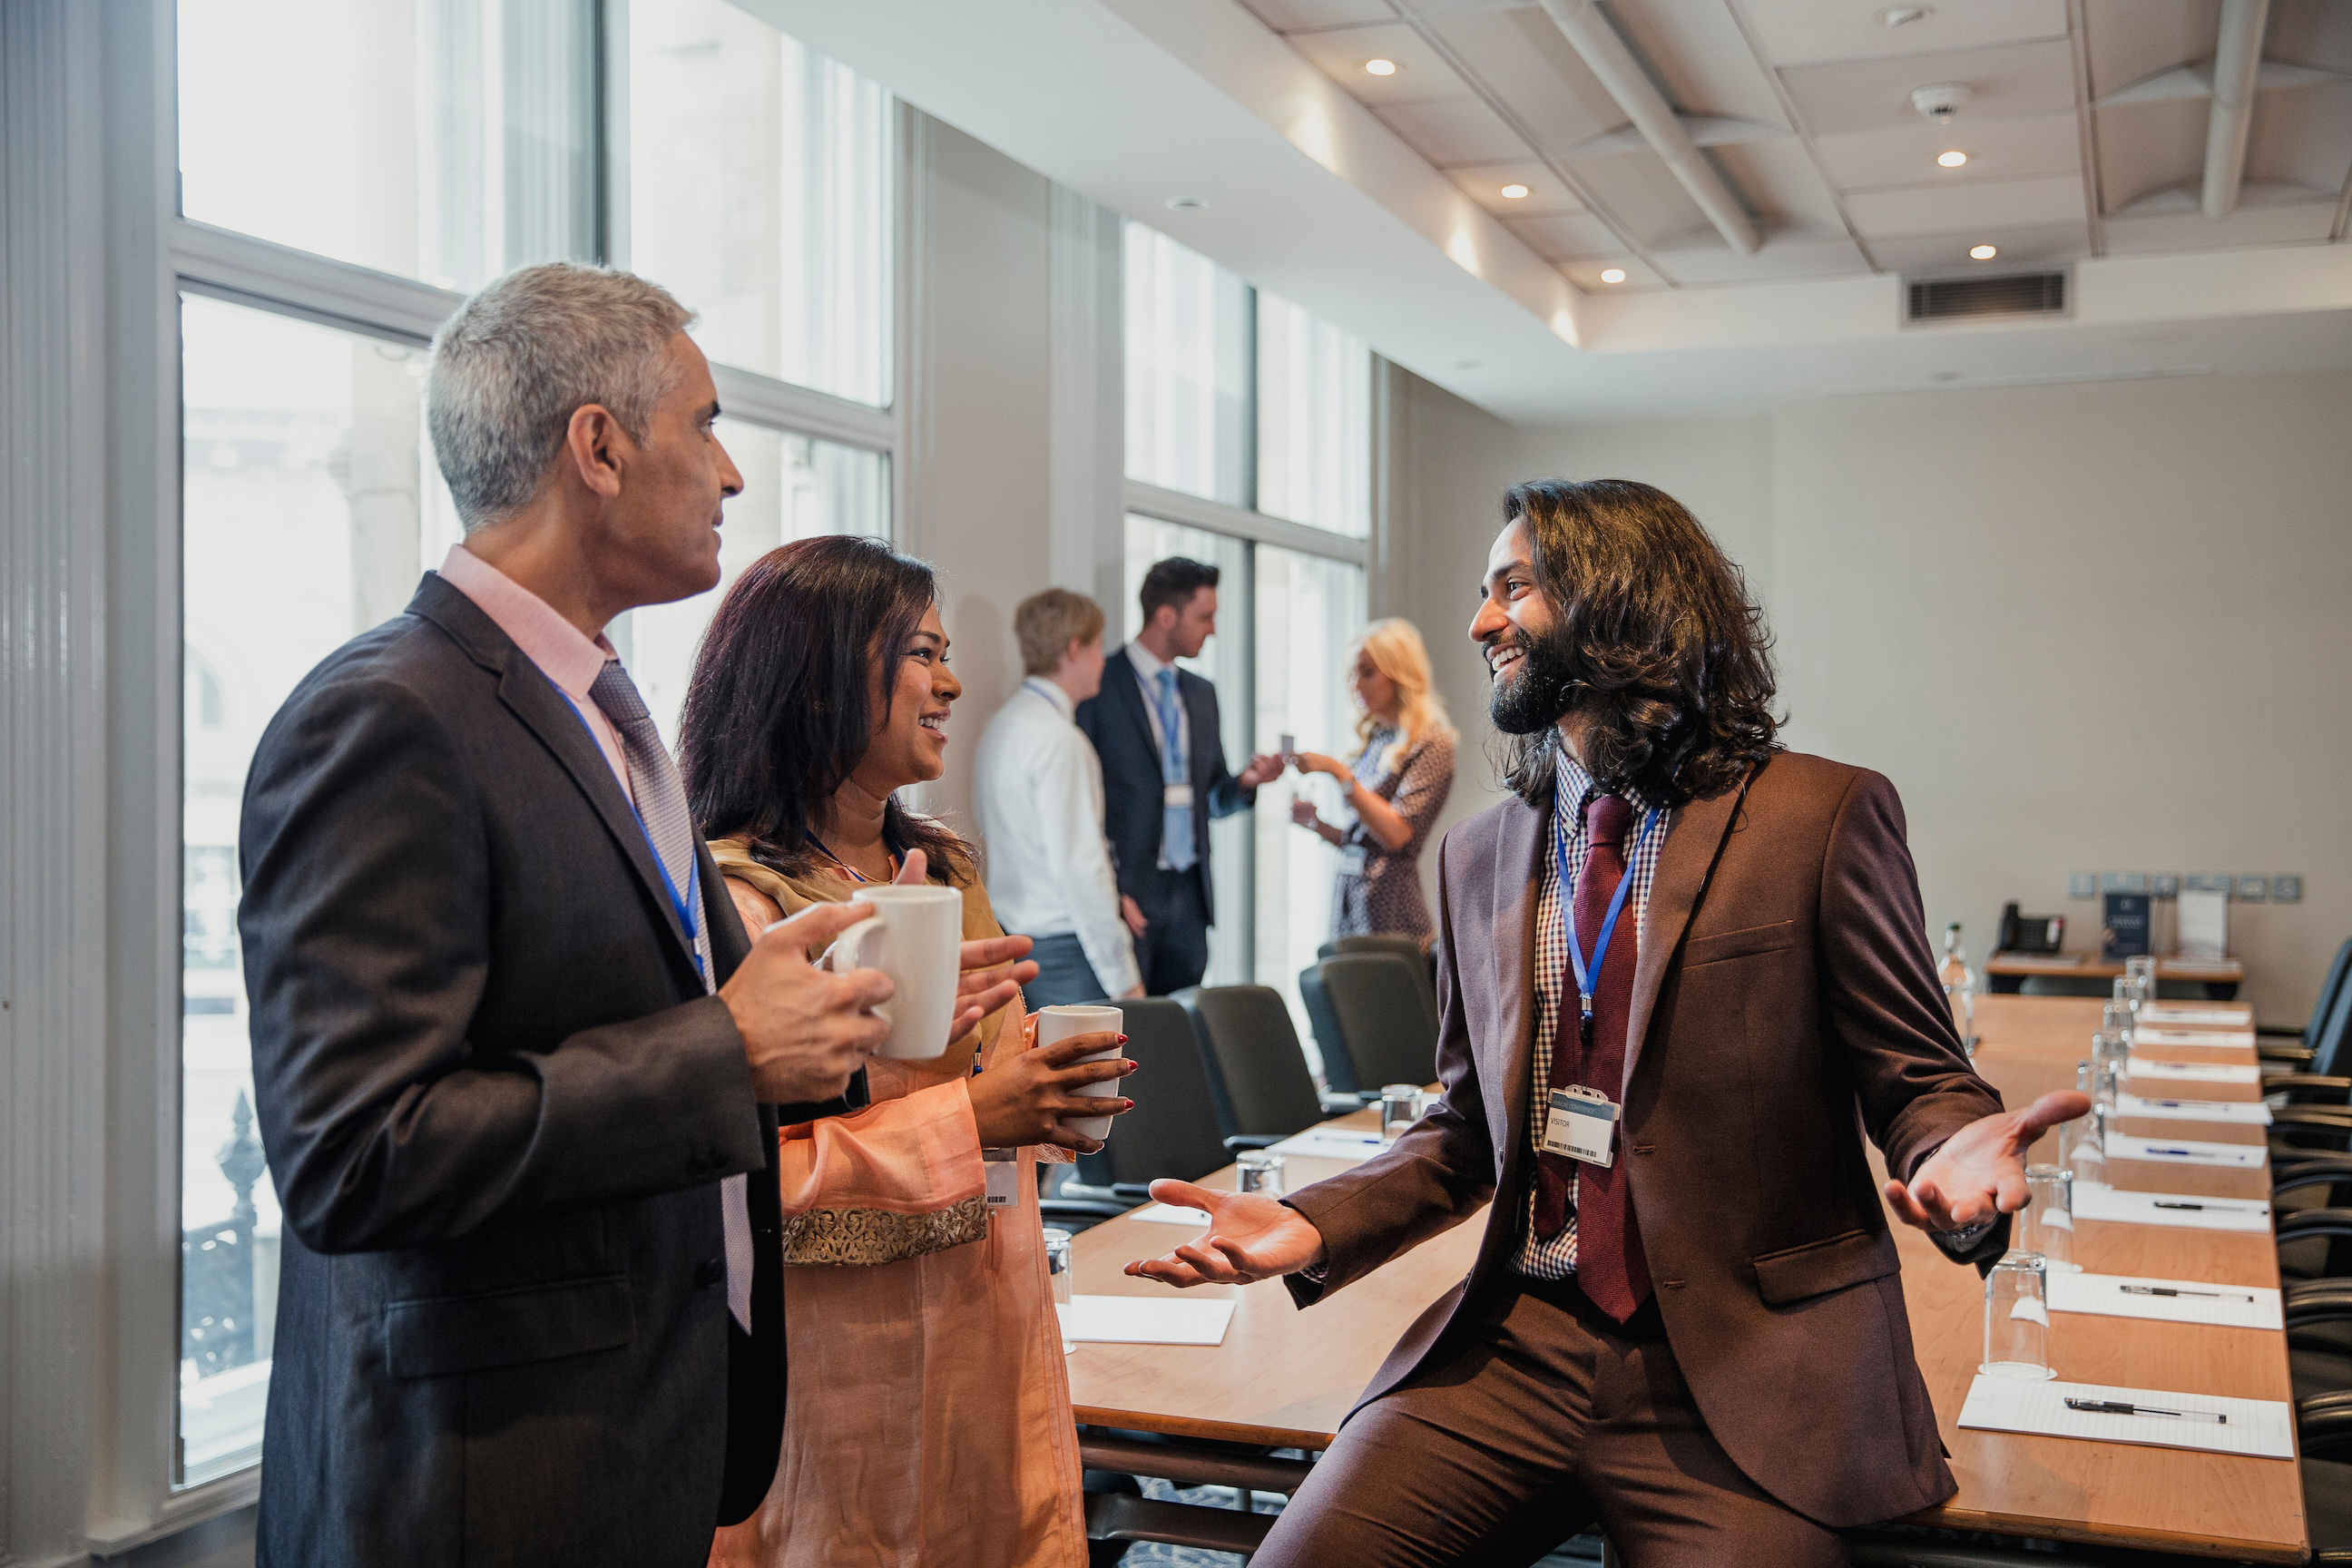
[[[722,0],[176,0],[176,16],[181,216],[230,230],[174,230],[172,1481],[195,1486],[259,1453],[278,1288],[235,924],[245,771],[294,684],[400,614],[459,538],[423,430],[426,339],[466,289],[548,259],[630,266],[701,313],[743,473],[724,581],[609,628],[675,741],[696,644],[748,562],[891,531],[898,108]]]

